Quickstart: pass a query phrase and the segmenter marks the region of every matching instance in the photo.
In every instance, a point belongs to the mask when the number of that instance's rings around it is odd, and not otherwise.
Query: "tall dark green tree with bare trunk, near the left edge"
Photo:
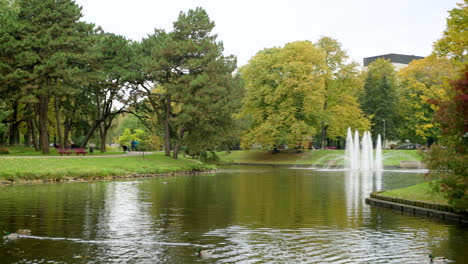
[[[84,51],[91,46],[93,25],[79,21],[81,9],[71,0],[18,0],[17,40],[21,42],[16,76],[32,95],[39,117],[40,143],[49,153],[48,111],[51,98],[62,94],[64,83],[75,84]]]

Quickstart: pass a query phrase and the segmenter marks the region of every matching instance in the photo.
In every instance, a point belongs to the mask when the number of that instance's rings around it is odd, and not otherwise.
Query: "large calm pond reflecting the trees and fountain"
[[[4,186],[1,263],[428,263],[468,259],[468,227],[370,207],[422,173],[287,167]],[[211,256],[196,256],[197,249]]]

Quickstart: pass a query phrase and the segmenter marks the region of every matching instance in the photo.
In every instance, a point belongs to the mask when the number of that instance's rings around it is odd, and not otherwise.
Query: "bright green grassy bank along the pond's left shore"
[[[214,169],[211,165],[164,153],[110,158],[0,158],[0,181],[94,179]]]

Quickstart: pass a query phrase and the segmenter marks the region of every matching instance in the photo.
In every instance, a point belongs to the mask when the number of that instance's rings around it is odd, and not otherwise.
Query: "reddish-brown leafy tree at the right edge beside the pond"
[[[439,108],[436,121],[442,127],[438,145],[426,157],[433,184],[457,209],[468,208],[468,66],[452,83],[448,100],[432,100]]]

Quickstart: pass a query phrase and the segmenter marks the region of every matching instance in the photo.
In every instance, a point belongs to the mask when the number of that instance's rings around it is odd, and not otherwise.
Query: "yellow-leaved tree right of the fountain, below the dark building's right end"
[[[418,143],[436,141],[440,127],[433,122],[438,108],[434,102],[448,99],[450,81],[456,76],[452,63],[445,58],[429,56],[412,61],[398,75],[401,135]]]

